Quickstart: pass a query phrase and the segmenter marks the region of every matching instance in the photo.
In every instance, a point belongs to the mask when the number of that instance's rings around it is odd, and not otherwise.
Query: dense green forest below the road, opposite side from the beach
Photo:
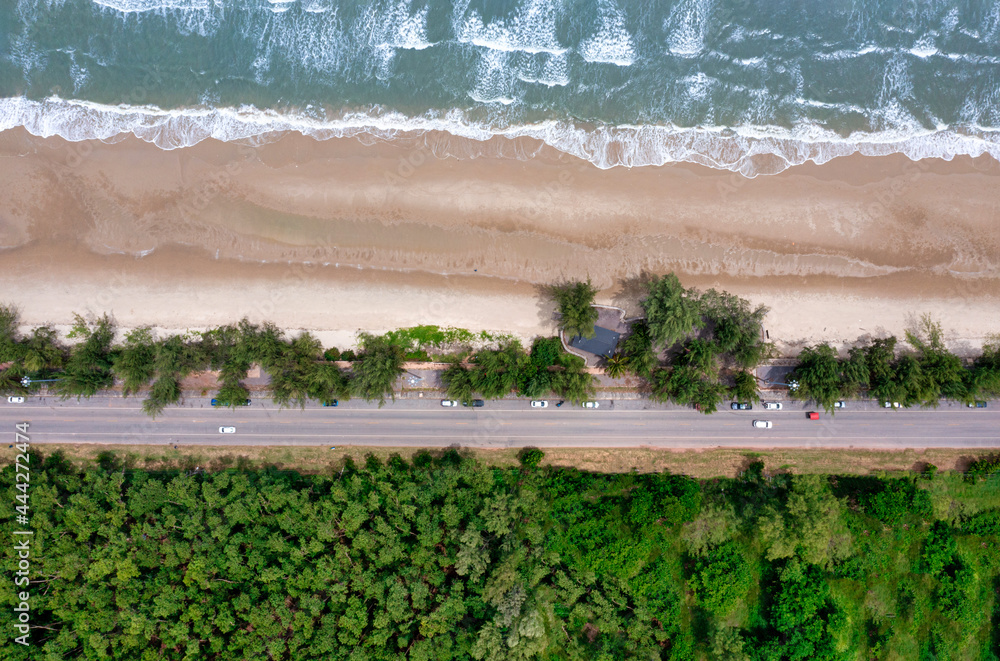
[[[33,452],[31,646],[2,627],[0,657],[1000,657],[997,457],[892,476],[748,459],[706,481],[542,459],[451,450],[304,475]],[[13,579],[0,593],[11,608]]]

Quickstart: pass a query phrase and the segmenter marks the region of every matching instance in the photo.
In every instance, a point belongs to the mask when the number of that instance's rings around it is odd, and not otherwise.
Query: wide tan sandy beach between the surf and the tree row
[[[836,159],[746,179],[600,170],[537,143],[445,134],[363,144],[298,134],[163,151],[0,133],[0,299],[26,324],[111,312],[124,328],[247,316],[317,331],[433,323],[553,331],[543,285],[590,277],[634,309],[675,271],[771,307],[782,351],[902,335],[953,349],[1000,332],[1000,166]],[[468,150],[466,150],[468,151]],[[535,153],[518,160],[490,154]]]

